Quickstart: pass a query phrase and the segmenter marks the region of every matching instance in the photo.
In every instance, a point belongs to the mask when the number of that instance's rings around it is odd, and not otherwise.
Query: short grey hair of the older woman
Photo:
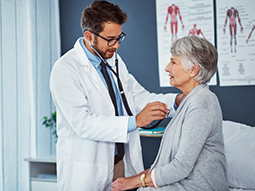
[[[207,40],[196,36],[186,36],[173,42],[171,54],[181,56],[184,70],[190,70],[194,64],[199,66],[195,80],[200,84],[211,80],[217,71],[218,53]]]

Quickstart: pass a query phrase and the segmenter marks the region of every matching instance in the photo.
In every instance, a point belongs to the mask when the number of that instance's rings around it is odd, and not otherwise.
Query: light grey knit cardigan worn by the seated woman
[[[218,99],[207,85],[194,88],[167,125],[151,166],[159,188],[140,190],[229,190]]]

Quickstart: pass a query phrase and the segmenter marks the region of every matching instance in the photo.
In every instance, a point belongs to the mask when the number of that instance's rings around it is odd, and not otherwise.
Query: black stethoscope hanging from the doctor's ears
[[[98,57],[104,62],[104,64],[105,64],[105,65],[111,70],[111,72],[116,76],[117,82],[118,82],[119,93],[120,93],[120,95],[121,95],[121,98],[122,98],[124,107],[125,107],[125,109],[126,109],[126,111],[127,111],[127,114],[128,114],[129,116],[133,116],[133,114],[132,114],[132,112],[131,112],[131,110],[130,110],[130,108],[129,108],[126,95],[125,95],[125,93],[124,93],[124,89],[123,89],[122,83],[121,83],[120,78],[119,78],[119,68],[118,68],[118,62],[119,62],[119,60],[118,60],[118,57],[117,57],[117,56],[118,56],[117,50],[115,51],[115,65],[116,65],[116,71],[117,71],[117,72],[115,72],[115,71],[112,69],[112,67],[102,58],[102,56],[101,56],[101,55],[95,50],[95,48],[91,45],[90,40],[89,40],[89,45],[90,45],[90,47],[92,48],[92,50],[98,55]],[[166,116],[169,116],[169,114],[170,114],[170,110],[169,110],[169,112],[166,114]],[[158,120],[157,123],[155,123],[154,125],[149,125],[149,126],[140,127],[140,128],[142,128],[142,129],[154,129],[154,128],[156,128],[156,127],[162,122],[162,120],[163,120],[163,119]]]

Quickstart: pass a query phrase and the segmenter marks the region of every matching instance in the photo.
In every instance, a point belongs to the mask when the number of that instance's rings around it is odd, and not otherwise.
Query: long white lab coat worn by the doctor
[[[125,143],[125,176],[144,170],[140,137],[138,130],[127,134],[129,117],[124,106],[125,116],[114,116],[109,93],[80,40],[54,64],[50,77],[57,109],[58,190],[108,191],[113,179],[115,142]],[[116,69],[114,60],[107,61]],[[128,73],[119,56],[118,60],[119,75],[134,115],[155,100],[173,105],[176,95],[149,93]]]

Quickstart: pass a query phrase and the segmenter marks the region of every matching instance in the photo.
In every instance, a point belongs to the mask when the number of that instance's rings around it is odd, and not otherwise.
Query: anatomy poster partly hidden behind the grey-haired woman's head
[[[158,66],[161,87],[169,87],[165,67],[170,61],[170,47],[175,39],[196,35],[214,44],[213,0],[156,0]],[[216,77],[209,85],[216,85]]]

